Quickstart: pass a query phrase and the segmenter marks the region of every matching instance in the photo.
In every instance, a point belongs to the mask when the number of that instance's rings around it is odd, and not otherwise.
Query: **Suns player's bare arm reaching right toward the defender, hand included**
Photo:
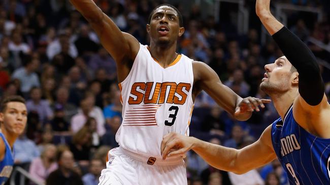
[[[254,110],[259,111],[258,106],[265,108],[264,103],[270,100],[253,97],[241,98],[232,89],[221,83],[216,72],[203,62],[192,63],[194,73],[194,88],[205,90],[219,106],[237,120],[245,121],[251,117]]]

